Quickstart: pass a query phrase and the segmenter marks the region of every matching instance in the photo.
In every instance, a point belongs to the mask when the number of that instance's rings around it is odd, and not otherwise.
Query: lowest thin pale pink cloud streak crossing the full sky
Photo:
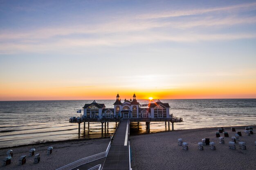
[[[240,34],[179,34],[171,35],[164,33],[144,33],[137,35],[123,36],[102,36],[100,38],[62,38],[55,42],[42,43],[4,43],[0,46],[1,54],[11,54],[17,52],[49,52],[65,51],[72,48],[91,48],[97,46],[121,47],[132,44],[150,44],[159,42],[199,42],[199,41],[229,41],[238,39],[255,39],[256,33]],[[74,51],[72,51],[74,53]]]

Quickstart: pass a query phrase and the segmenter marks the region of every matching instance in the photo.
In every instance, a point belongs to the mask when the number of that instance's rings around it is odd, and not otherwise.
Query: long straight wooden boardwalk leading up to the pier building
[[[129,170],[129,129],[129,119],[123,119],[117,128],[103,170]]]

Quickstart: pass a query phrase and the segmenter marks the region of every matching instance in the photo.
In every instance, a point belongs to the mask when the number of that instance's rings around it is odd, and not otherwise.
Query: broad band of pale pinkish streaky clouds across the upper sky
[[[198,42],[254,39],[253,31],[236,33],[202,33],[191,28],[218,28],[231,25],[249,25],[256,23],[255,16],[240,16],[238,11],[254,10],[256,2],[209,9],[145,13],[143,15],[123,16],[115,21],[75,26],[44,27],[34,30],[0,30],[0,54],[19,52],[60,51],[70,48],[96,46],[127,46],[131,44],[148,44],[157,42]],[[213,12],[233,12],[232,15],[215,17],[215,15],[191,16],[183,20],[162,20],[170,16],[197,15]],[[153,20],[148,20],[153,19]],[[184,31],[182,31],[184,30]],[[206,31],[207,32],[207,31]]]

